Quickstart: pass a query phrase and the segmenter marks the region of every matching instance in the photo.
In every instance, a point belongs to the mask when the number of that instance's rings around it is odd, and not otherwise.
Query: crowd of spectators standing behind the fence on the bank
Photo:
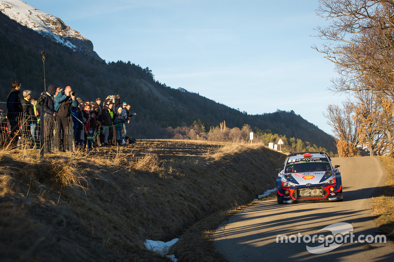
[[[7,96],[7,121],[1,128],[8,133],[9,143],[17,146],[22,137],[36,146],[38,131],[43,132],[44,152],[129,143],[126,123],[135,114],[131,113],[130,104],[121,103],[119,95],[90,102],[76,97],[70,86],[50,85],[38,99],[32,97],[30,90],[24,90],[20,99],[21,88],[21,83],[14,81]]]

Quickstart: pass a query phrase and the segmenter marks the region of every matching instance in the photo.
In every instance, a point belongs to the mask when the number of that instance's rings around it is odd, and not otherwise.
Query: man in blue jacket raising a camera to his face
[[[74,141],[73,136],[73,122],[71,119],[71,107],[77,107],[78,101],[75,99],[75,92],[70,86],[60,91],[55,99],[55,111],[58,112],[56,122],[58,124],[57,142],[60,142],[60,149],[62,151],[72,151]]]

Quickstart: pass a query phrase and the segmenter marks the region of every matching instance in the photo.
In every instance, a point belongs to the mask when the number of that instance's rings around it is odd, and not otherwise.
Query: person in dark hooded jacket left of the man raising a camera
[[[41,122],[41,129],[44,130],[43,150],[45,153],[50,153],[51,149],[55,151],[59,150],[59,143],[55,143],[56,139],[53,132],[55,129],[55,116],[58,115],[54,107],[54,95],[60,89],[54,85],[50,85],[48,91],[41,93],[41,96],[43,96],[40,104],[41,114],[44,116],[44,121]]]

